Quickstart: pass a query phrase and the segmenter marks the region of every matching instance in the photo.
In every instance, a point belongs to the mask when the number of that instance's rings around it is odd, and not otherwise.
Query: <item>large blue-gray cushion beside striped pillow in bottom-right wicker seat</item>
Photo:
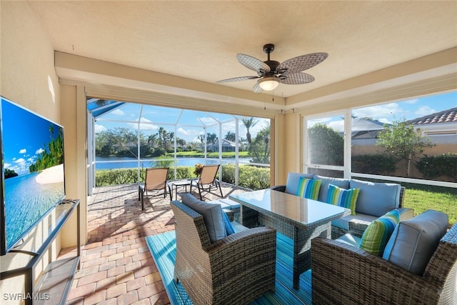
[[[383,259],[422,275],[447,229],[448,215],[441,211],[427,210],[401,221],[386,245]]]

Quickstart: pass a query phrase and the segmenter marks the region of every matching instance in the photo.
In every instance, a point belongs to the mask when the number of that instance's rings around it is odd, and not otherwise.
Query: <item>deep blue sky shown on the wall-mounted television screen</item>
[[[29,174],[29,166],[51,140],[50,122],[19,106],[1,99],[2,141],[4,167],[17,174]],[[54,128],[54,136],[59,129]]]

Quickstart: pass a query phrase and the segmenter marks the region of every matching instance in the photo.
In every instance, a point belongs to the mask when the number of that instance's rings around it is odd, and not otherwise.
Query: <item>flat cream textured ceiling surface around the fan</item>
[[[256,75],[236,54],[313,52],[288,97],[457,46],[457,1],[29,1],[56,51],[209,82]],[[457,60],[456,60],[457,61]],[[255,80],[220,84],[251,91]]]

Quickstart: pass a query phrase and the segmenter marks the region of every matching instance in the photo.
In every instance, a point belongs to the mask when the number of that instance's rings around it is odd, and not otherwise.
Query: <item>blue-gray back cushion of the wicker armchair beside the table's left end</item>
[[[186,193],[181,196],[181,201],[189,208],[203,216],[209,240],[214,243],[227,236],[224,216],[220,204],[209,204],[205,201],[196,199],[192,194]]]

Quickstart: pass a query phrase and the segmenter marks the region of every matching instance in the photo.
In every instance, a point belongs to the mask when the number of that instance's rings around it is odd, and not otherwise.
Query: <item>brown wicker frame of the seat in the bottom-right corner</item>
[[[334,240],[313,239],[313,304],[457,304],[457,224],[423,276]]]

